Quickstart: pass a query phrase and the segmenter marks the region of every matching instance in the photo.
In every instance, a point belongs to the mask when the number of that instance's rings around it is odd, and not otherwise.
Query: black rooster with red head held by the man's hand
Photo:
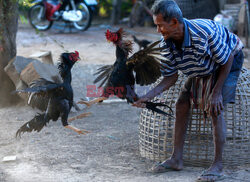
[[[116,45],[116,61],[113,65],[99,68],[95,73],[98,76],[94,83],[102,81],[100,87],[104,84],[105,86],[102,96],[90,101],[91,104],[103,101],[112,95],[126,99],[128,103],[134,103],[138,100],[134,90],[135,83],[141,86],[149,85],[161,76],[160,59],[165,58],[161,55],[160,50],[163,48],[155,48],[160,41],[154,42],[149,47],[134,53],[128,58],[129,53],[132,52],[132,42],[123,40],[123,37],[124,32],[122,29],[117,32],[110,32],[109,30],[106,32],[106,39]],[[135,72],[135,76],[133,72]],[[169,115],[156,108],[157,106],[167,106],[163,103],[146,102],[145,104],[146,108],[152,111]]]

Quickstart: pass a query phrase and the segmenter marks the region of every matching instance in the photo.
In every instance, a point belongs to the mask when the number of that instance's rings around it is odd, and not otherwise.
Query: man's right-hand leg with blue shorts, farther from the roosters
[[[237,80],[240,75],[242,64],[244,61],[243,52],[239,51],[234,56],[234,62],[230,73],[223,85],[222,97],[224,106],[227,103],[235,102],[235,91]],[[216,181],[224,178],[222,173],[222,154],[226,140],[226,122],[224,121],[223,113],[217,117],[212,116],[213,138],[214,138],[214,160],[210,168],[204,171],[198,178],[198,181]]]

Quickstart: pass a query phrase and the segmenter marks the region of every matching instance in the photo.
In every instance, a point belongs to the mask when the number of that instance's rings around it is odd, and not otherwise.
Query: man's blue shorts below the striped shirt
[[[244,56],[242,50],[239,51],[233,60],[233,64],[226,78],[223,88],[222,88],[222,97],[223,97],[223,104],[227,103],[234,103],[235,102],[235,92],[237,87],[237,81],[240,75],[240,71],[243,65]],[[188,78],[185,82],[183,88],[181,89],[179,99],[189,99],[191,97],[191,88],[192,88],[192,80],[193,78]]]

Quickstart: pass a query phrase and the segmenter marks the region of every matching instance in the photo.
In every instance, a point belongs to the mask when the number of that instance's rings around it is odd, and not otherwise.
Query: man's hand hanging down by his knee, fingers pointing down
[[[219,116],[221,114],[221,111],[223,110],[223,100],[222,100],[222,94],[219,93],[213,93],[210,95],[209,101],[208,101],[208,109],[210,116]]]

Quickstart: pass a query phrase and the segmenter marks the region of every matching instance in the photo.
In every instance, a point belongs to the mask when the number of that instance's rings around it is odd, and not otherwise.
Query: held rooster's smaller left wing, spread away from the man
[[[97,72],[94,74],[94,75],[98,75],[96,79],[94,80],[94,83],[102,81],[99,85],[99,87],[102,87],[109,80],[113,69],[114,69],[114,65],[105,65],[105,66],[98,68]]]

